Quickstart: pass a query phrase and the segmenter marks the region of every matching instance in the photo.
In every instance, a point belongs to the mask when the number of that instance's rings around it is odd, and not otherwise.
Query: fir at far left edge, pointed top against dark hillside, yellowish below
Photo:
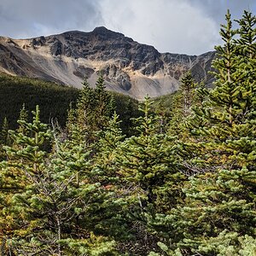
[[[3,224],[3,231],[8,237],[8,242],[12,241],[15,234],[26,233],[23,212],[16,205],[16,195],[26,191],[26,187],[33,183],[32,177],[35,173],[41,173],[41,164],[46,156],[44,150],[45,141],[50,137],[50,131],[46,125],[39,121],[39,109],[33,113],[34,118],[31,124],[25,120],[19,120],[20,125],[26,127],[29,135],[23,135],[18,131],[9,131],[14,145],[5,146],[8,161],[1,163],[1,190],[2,195],[2,215],[9,220]],[[12,248],[9,247],[11,251]]]

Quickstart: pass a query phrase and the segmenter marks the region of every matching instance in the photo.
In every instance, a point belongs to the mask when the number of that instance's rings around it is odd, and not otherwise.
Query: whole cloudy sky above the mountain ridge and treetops
[[[33,38],[106,26],[160,52],[200,55],[221,44],[227,9],[233,19],[256,0],[0,0],[0,35]]]

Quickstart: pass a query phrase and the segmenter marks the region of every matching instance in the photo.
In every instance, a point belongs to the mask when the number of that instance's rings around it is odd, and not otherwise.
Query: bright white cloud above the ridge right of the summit
[[[105,25],[161,52],[201,54],[218,44],[218,25],[184,0],[102,0]]]

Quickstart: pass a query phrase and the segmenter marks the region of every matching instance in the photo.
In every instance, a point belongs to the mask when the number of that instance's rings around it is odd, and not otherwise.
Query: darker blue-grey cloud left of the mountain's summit
[[[92,30],[101,22],[97,1],[0,0],[0,35],[29,38]]]

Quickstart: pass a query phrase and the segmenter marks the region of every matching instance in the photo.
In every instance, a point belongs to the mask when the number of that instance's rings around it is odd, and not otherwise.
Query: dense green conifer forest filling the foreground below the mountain
[[[255,26],[227,13],[212,90],[186,73],[137,110],[85,80],[72,108],[77,90],[50,100],[68,98],[65,125],[42,121],[43,100],[32,119],[17,106],[1,132],[1,255],[256,255]]]

